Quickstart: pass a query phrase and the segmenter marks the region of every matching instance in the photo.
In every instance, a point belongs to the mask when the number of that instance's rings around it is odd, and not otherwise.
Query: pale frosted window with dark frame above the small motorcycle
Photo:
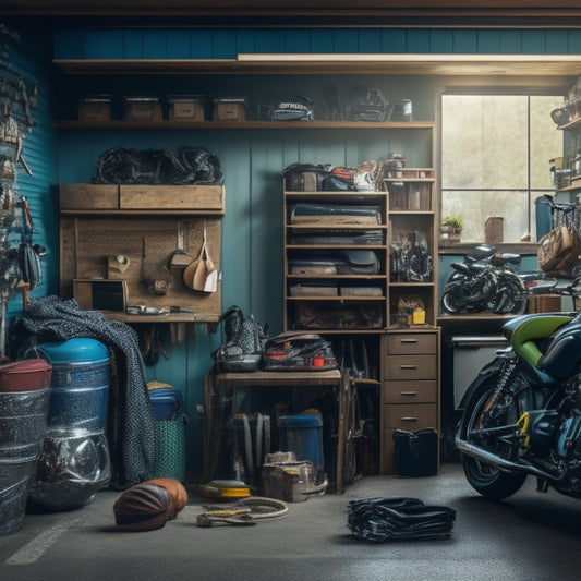
[[[462,242],[483,242],[497,216],[505,242],[536,241],[534,201],[554,194],[549,160],[562,155],[560,106],[562,94],[441,97],[441,217],[462,217]]]

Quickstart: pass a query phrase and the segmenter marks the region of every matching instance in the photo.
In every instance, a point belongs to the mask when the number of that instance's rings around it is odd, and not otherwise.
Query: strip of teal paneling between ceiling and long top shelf
[[[239,52],[576,53],[580,35],[576,28],[59,29],[55,58],[233,59]]]

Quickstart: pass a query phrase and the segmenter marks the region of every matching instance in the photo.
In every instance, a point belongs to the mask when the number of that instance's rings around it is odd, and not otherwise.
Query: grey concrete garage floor
[[[423,581],[578,580],[581,574],[581,501],[534,479],[493,505],[463,479],[458,464],[437,476],[365,477],[343,495],[289,505],[279,519],[255,526],[201,529],[204,499],[192,495],[162,529],[114,531],[120,493],[100,492],[86,507],[27,515],[23,528],[0,537],[0,579],[204,581]],[[349,500],[412,496],[457,510],[451,538],[370,545],[347,529]]]

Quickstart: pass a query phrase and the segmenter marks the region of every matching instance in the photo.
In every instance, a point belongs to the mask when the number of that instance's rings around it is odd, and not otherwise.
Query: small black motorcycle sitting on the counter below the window
[[[519,277],[522,256],[497,252],[480,244],[462,263],[452,263],[453,273],[444,286],[441,308],[445,313],[522,314],[526,288]]]

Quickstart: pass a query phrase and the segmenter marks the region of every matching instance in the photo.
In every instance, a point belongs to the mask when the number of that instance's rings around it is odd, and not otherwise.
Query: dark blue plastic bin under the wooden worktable
[[[310,460],[315,469],[315,482],[324,477],[323,417],[319,413],[283,415],[278,419],[279,447],[294,452],[296,460]]]

